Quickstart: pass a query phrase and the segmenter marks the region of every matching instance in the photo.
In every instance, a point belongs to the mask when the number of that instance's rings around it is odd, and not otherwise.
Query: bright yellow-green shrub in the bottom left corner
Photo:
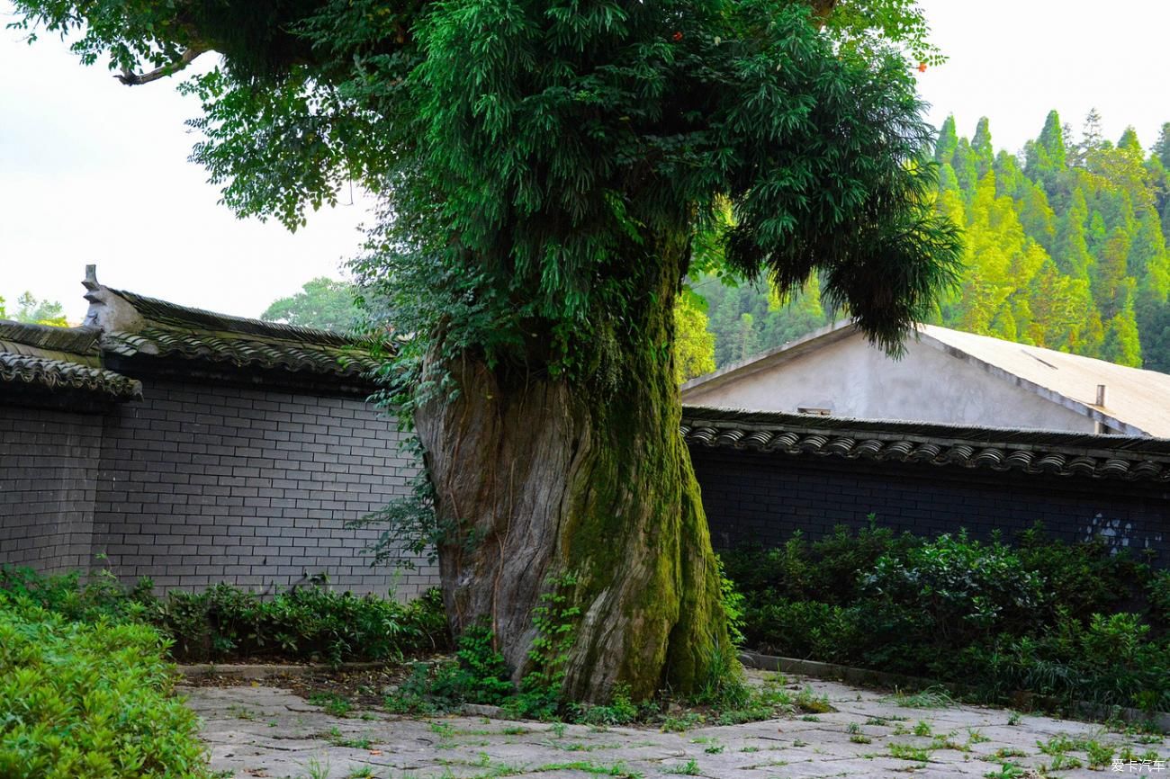
[[[207,775],[165,649],[150,626],[70,621],[0,591],[0,777]]]

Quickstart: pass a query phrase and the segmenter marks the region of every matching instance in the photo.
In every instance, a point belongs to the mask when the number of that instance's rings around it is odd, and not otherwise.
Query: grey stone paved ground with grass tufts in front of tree
[[[288,690],[263,684],[183,692],[205,721],[212,768],[239,779],[928,778],[1034,777],[1046,771],[1100,777],[1114,774],[1113,758],[1138,760],[1143,753],[1149,764],[1123,763],[1122,772],[1170,777],[1170,770],[1158,771],[1163,766],[1152,763],[1152,753],[1163,760],[1170,757],[1161,737],[1030,715],[1017,721],[1002,709],[908,708],[874,690],[812,678],[790,681],[827,696],[837,711],[669,733],[378,711],[337,717]],[[1041,750],[1059,752],[1054,747],[1060,739],[1066,747],[1080,743],[1064,758]],[[1087,751],[1097,749],[1093,756]],[[1092,757],[1099,765],[1090,771]],[[1018,767],[1005,768],[1005,760]],[[1075,760],[1082,767],[1053,770],[1054,760]]]

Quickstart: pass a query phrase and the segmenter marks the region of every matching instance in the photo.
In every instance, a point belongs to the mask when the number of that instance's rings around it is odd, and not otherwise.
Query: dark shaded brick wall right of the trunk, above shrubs
[[[928,463],[866,462],[691,448],[716,549],[821,538],[875,515],[879,526],[934,536],[965,528],[1005,540],[1042,522],[1064,540],[1101,536],[1154,551],[1170,567],[1170,485],[1018,475]]]

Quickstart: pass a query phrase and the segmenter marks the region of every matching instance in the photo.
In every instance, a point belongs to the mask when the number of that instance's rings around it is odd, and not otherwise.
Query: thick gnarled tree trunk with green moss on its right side
[[[603,702],[702,684],[728,648],[698,484],[679,435],[673,306],[687,253],[668,247],[642,284],[638,337],[594,384],[449,365],[460,393],[417,415],[454,531],[440,547],[455,633],[487,622],[518,678],[550,578],[572,572],[580,608],[563,692]],[[598,371],[598,374],[605,373]]]

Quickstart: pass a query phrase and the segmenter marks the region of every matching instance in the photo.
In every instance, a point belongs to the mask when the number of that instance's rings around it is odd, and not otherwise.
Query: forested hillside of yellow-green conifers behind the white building
[[[937,207],[964,228],[966,269],[934,324],[1170,372],[1170,123],[1144,150],[1117,143],[1090,112],[1075,133],[1048,113],[1019,154],[993,151],[991,127],[935,149]],[[722,366],[828,322],[815,282],[785,302],[706,277],[708,330]]]

